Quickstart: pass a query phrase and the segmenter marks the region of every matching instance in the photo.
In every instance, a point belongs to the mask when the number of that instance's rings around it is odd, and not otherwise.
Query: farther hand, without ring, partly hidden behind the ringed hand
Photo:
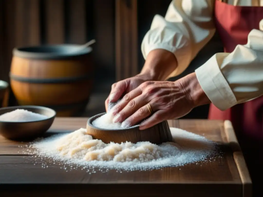
[[[134,77],[130,77],[128,79],[124,79],[112,84],[111,92],[108,98],[105,100],[106,112],[108,111],[109,102],[117,102],[122,95],[130,92],[131,90],[134,90],[140,84],[148,81],[149,79],[150,77],[148,77],[147,75],[136,75]]]

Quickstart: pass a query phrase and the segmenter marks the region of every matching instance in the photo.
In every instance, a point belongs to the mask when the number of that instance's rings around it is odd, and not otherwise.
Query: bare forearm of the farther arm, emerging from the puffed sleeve
[[[177,68],[175,55],[164,49],[155,49],[148,54],[139,75],[146,75],[152,81],[164,81]]]

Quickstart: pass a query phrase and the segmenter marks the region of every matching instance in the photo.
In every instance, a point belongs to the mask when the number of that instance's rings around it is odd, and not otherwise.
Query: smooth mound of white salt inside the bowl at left
[[[4,113],[0,116],[0,121],[7,122],[30,122],[30,121],[39,121],[46,119],[47,116],[34,113],[31,111],[17,109],[11,112]]]

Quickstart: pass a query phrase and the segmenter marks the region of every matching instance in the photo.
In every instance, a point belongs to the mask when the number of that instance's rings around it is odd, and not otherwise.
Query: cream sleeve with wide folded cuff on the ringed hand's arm
[[[218,53],[195,71],[211,102],[220,110],[263,95],[263,19],[245,45]]]

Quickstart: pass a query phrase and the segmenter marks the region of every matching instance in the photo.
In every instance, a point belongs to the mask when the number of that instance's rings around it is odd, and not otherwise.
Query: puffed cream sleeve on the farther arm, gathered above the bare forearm
[[[168,50],[178,62],[169,77],[181,74],[215,33],[213,9],[211,0],[173,0],[165,17],[155,15],[143,39],[144,59],[151,50]]]

